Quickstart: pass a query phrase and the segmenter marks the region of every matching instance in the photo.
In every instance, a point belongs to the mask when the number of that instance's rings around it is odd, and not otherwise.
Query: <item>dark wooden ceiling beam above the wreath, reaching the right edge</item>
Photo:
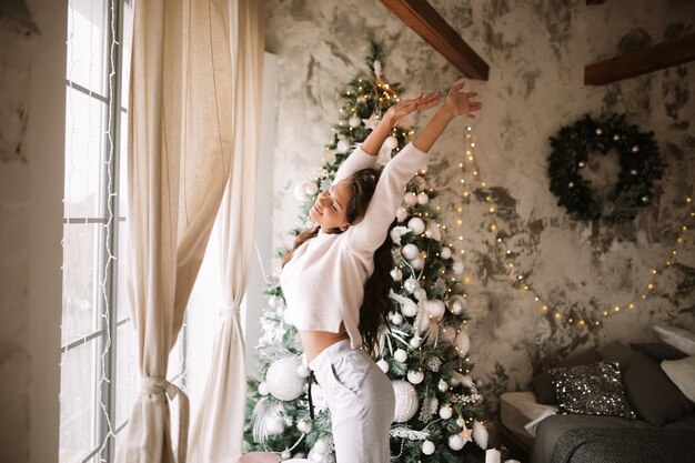
[[[604,85],[693,60],[695,60],[695,33],[688,33],[590,64],[584,68],[584,84]]]

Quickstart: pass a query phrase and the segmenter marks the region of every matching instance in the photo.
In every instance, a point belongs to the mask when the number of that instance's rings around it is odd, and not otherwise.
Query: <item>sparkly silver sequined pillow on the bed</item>
[[[548,372],[562,414],[637,417],[629,409],[621,368],[614,362],[553,369]]]

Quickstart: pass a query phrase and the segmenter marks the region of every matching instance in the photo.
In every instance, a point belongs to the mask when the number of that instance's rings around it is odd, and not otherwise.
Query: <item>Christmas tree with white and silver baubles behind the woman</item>
[[[334,159],[325,157],[315,177],[295,189],[303,201],[301,220],[308,227],[316,194],[331,185],[354,145],[364,141],[404,90],[386,81],[383,58],[382,46],[372,41],[366,60],[371,72],[353,79],[341,93],[340,121],[326,145]],[[395,155],[413,133],[403,124],[395,127],[382,151]],[[409,183],[390,231],[395,262],[391,326],[381,331],[374,360],[392,380],[396,396],[391,454],[397,462],[460,462],[475,452],[469,442],[487,446],[482,395],[470,374],[466,294],[459,283],[463,263],[445,239],[445,227],[437,223],[434,198],[436,191],[422,170]],[[310,416],[310,371],[296,330],[283,321],[284,300],[276,279],[271,279],[266,294],[256,348],[261,380],[249,379],[246,450],[278,452],[283,460],[332,462],[330,413],[314,383],[316,414]]]

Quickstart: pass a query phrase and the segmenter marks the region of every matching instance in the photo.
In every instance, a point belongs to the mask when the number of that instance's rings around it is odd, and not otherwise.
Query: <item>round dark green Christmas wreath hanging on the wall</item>
[[[551,191],[571,215],[580,220],[606,219],[613,222],[633,220],[639,208],[652,201],[654,181],[661,179],[665,163],[661,160],[654,132],[641,132],[628,124],[625,114],[603,119],[584,115],[551,137],[553,151],[547,172]],[[616,184],[600,197],[582,175],[588,157],[598,152],[618,153],[621,171]]]

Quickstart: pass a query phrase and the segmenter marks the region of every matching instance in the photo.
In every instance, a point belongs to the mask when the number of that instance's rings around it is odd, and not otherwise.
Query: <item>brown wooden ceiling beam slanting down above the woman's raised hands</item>
[[[487,80],[490,67],[426,0],[380,0],[417,36],[471,79]]]

